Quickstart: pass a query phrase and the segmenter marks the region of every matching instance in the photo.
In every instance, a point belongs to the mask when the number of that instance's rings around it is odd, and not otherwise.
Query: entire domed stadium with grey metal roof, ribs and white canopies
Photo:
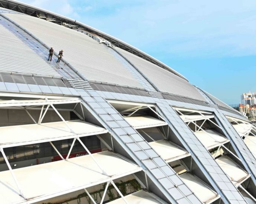
[[[256,202],[255,126],[164,63],[13,0],[0,45],[1,203]]]

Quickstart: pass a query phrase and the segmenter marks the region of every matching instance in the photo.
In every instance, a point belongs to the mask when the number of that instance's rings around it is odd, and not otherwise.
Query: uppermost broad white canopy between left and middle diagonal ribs
[[[131,116],[131,117],[124,117],[124,118],[135,129],[168,125],[166,122],[160,119],[154,118],[152,116]]]

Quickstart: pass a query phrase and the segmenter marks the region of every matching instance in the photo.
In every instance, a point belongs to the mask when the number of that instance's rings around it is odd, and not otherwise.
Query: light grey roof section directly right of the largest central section
[[[160,91],[205,101],[196,88],[186,80],[125,50],[115,49],[147,76]]]

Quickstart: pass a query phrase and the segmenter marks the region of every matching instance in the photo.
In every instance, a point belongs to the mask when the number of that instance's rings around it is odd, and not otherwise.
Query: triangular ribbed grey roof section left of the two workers
[[[0,71],[19,72],[47,76],[60,76],[42,58],[29,48],[0,17]],[[8,26],[8,25],[7,25]]]

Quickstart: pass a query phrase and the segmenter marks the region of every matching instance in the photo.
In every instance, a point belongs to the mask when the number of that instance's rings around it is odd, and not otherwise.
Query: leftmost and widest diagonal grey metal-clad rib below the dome
[[[93,108],[95,113],[104,120],[106,129],[111,129],[111,134],[120,145],[125,145],[136,157],[135,162],[143,165],[148,171],[147,175],[157,187],[165,191],[169,201],[181,203],[182,199],[187,203],[201,203],[193,192],[175,174],[174,170],[150,147],[147,141],[128,124],[127,121],[96,91],[78,91],[83,101],[91,108],[98,103],[99,108]],[[118,136],[118,138],[116,138]],[[132,156],[131,155],[131,156]],[[140,164],[141,163],[141,164]],[[177,191],[177,194],[171,192]]]

